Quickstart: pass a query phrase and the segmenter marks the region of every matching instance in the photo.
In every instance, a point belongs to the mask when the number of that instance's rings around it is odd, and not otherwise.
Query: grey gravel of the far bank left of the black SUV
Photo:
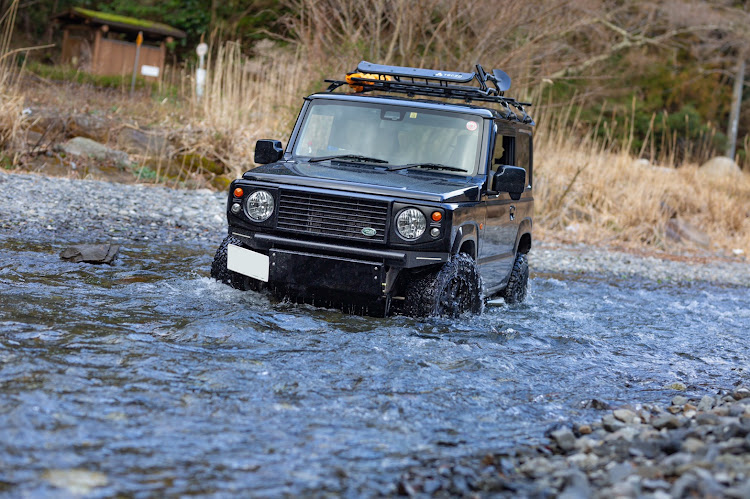
[[[0,171],[0,230],[38,242],[220,241],[225,203],[209,190]]]

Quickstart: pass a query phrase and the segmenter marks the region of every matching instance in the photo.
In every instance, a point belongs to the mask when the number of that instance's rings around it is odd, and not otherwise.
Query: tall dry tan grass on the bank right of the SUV
[[[656,164],[639,160],[623,152],[632,137],[595,140],[596,129],[582,133],[570,116],[573,109],[541,106],[535,116],[534,197],[540,234],[674,251],[666,227],[671,218],[679,218],[711,240],[710,248],[687,242],[683,250],[750,252],[750,175],[712,178],[697,164],[675,165],[671,154]],[[626,146],[617,146],[622,143]]]

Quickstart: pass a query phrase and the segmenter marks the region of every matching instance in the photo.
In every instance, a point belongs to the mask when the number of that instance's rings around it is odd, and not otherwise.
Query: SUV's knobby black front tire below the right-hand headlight
[[[466,253],[454,255],[438,270],[415,275],[406,283],[404,312],[414,317],[456,317],[482,312],[482,278]]]

